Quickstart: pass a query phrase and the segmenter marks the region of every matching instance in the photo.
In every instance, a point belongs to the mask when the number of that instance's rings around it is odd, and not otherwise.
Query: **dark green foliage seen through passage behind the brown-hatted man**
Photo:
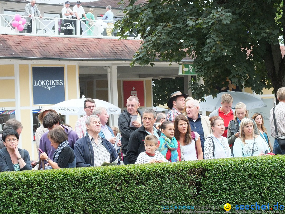
[[[180,91],[184,94],[183,77],[154,79],[152,83],[153,106],[166,104],[173,92]]]

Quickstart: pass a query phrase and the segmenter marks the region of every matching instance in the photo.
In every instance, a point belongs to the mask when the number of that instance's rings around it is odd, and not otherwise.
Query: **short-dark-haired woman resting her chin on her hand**
[[[0,150],[0,171],[31,170],[30,155],[27,150],[18,148],[19,134],[7,129],[2,134],[5,148]]]

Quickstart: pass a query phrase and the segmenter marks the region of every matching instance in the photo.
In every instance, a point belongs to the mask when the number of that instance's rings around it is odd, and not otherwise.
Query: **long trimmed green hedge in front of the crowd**
[[[225,203],[236,213],[240,204],[285,205],[284,175],[277,155],[1,172],[0,213],[193,213],[162,204],[224,213]]]

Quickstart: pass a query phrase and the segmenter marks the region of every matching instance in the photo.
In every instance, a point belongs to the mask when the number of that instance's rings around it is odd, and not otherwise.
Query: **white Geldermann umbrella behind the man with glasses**
[[[85,96],[83,95],[81,99],[66,100],[53,105],[52,108],[62,115],[85,115],[84,100]],[[121,114],[119,107],[104,100],[93,100],[95,101],[96,107],[102,106],[107,108],[107,114]]]

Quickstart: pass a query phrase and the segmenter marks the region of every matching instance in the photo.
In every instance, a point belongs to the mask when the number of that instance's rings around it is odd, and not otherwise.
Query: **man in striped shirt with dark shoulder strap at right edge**
[[[275,138],[273,153],[274,154],[285,154],[285,150],[281,150],[278,144],[276,135],[285,136],[285,87],[279,88],[276,92],[277,99],[279,103],[276,105],[274,109],[276,126],[278,133],[275,132],[274,119],[273,119],[273,108],[270,110],[270,128],[271,128],[271,136]]]

